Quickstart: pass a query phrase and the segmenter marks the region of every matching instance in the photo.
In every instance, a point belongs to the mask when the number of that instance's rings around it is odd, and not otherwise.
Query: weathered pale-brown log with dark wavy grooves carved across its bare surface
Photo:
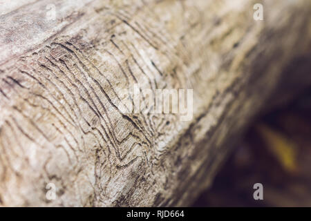
[[[187,206],[310,52],[309,0],[261,1],[263,21],[256,1],[9,2],[2,206]],[[134,85],[143,104],[148,88],[193,89],[193,117],[120,111]]]

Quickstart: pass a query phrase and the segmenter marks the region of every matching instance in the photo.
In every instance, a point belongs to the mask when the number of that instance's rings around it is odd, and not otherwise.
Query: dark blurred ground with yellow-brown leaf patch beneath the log
[[[259,116],[193,206],[311,206],[311,88]]]

